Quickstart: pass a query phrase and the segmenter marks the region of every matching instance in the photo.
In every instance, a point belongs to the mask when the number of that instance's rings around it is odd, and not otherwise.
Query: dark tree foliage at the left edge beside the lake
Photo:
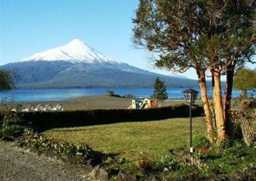
[[[15,83],[10,72],[0,70],[0,91],[10,90],[13,88],[15,88]]]

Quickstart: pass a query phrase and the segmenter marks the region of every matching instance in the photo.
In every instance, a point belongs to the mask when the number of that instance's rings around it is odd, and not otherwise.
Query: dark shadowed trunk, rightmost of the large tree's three
[[[227,66],[226,72],[226,85],[225,85],[225,95],[223,99],[223,113],[224,120],[226,123],[226,133],[228,136],[232,136],[232,124],[230,118],[230,108],[231,108],[231,98],[232,98],[232,87],[233,87],[233,75],[234,69],[230,66]]]

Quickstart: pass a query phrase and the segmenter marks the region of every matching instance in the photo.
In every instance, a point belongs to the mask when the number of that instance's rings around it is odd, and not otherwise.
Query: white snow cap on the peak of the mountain
[[[110,57],[106,57],[96,50],[92,49],[79,39],[74,39],[67,45],[50,49],[44,52],[34,54],[31,57],[21,61],[69,61],[73,63],[120,63]]]

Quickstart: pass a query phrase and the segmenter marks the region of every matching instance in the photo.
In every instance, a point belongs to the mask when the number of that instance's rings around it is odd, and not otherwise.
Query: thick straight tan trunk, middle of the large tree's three
[[[220,85],[220,70],[215,68],[212,70],[212,76],[214,79],[213,87],[213,104],[216,118],[217,127],[217,140],[222,141],[226,139],[225,120],[223,114],[222,98],[221,98],[221,85]]]

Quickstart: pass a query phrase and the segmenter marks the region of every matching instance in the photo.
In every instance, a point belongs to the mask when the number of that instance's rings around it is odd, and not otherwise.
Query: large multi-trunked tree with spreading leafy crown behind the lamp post
[[[234,12],[234,13],[233,13]],[[236,66],[255,54],[255,1],[141,0],[133,20],[134,44],[156,55],[155,65],[172,71],[196,70],[213,141],[205,71],[212,74],[217,139],[226,138],[220,76],[233,77]],[[232,86],[227,79],[230,98]],[[226,101],[226,100],[224,100]],[[225,102],[224,105],[229,103]]]

